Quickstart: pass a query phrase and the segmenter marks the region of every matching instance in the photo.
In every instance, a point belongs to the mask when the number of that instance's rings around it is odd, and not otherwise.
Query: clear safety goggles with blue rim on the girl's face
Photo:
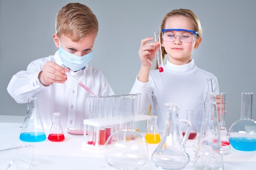
[[[162,29],[161,32],[163,41],[167,42],[174,42],[177,36],[181,42],[195,42],[196,36],[199,37],[198,32],[188,29]]]

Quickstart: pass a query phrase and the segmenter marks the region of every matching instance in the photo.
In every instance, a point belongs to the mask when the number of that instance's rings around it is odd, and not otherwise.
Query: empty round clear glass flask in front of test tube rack
[[[135,140],[127,140],[131,136],[137,137]],[[135,130],[119,130],[106,141],[105,159],[117,170],[138,170],[148,160],[147,142]]]

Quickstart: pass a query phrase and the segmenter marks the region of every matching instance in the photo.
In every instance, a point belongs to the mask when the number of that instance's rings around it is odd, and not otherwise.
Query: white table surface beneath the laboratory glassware
[[[19,139],[22,123],[0,122],[0,146],[30,144],[34,146],[34,161],[32,170],[113,170],[105,161],[104,151],[82,148],[83,135],[70,135],[64,131],[65,140],[51,142],[48,139],[41,142],[24,142]],[[45,130],[46,136],[49,130]],[[196,140],[188,141],[186,150],[190,155],[190,162],[184,170],[193,170],[192,145]],[[157,144],[149,144],[149,152],[155,150]],[[223,156],[225,170],[255,170],[256,151],[245,152],[235,150]],[[0,167],[2,169],[3,167]],[[150,157],[141,170],[159,170]]]

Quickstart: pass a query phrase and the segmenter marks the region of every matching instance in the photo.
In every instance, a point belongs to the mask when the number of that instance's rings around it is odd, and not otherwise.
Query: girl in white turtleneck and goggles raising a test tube
[[[186,110],[194,110],[194,126],[200,130],[208,78],[212,79],[213,92],[219,93],[217,78],[198,68],[191,58],[193,49],[198,49],[202,42],[200,21],[189,9],[175,9],[164,16],[159,32],[162,57],[168,57],[164,71],[150,71],[159,43],[149,42],[153,37],[144,38],[139,49],[141,68],[131,93],[141,93],[143,113],[151,106],[151,114],[157,115],[159,132],[165,128],[166,102],[180,105],[181,119],[186,119]]]

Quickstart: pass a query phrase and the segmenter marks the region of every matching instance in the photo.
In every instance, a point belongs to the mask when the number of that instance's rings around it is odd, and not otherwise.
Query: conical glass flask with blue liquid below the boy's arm
[[[39,113],[38,97],[31,97],[28,99],[28,110],[20,132],[20,140],[38,142],[45,139],[45,130]]]

